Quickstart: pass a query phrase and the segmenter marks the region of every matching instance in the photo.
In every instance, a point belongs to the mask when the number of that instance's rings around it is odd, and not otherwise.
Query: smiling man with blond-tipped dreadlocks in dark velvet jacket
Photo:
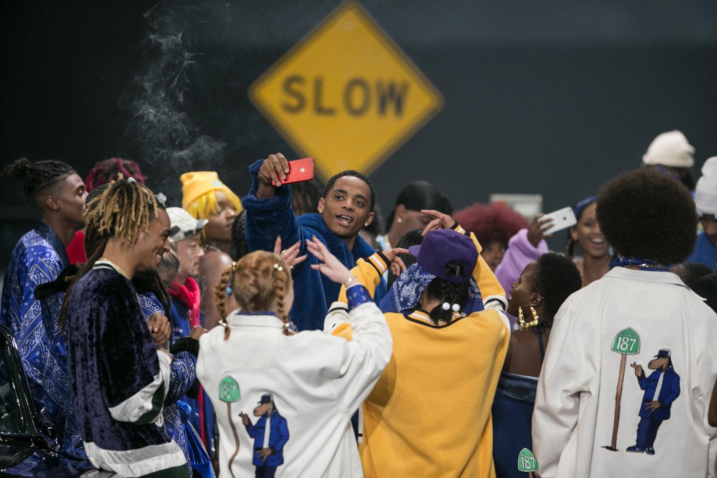
[[[145,320],[132,283],[138,272],[156,272],[168,251],[169,217],[132,179],[110,184],[87,209],[95,247],[60,314],[87,457],[123,477],[189,477],[184,452],[163,427],[172,388],[169,322],[161,312]]]

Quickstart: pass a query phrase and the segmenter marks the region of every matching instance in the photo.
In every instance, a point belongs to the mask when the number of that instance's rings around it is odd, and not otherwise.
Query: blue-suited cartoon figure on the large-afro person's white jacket
[[[675,373],[672,365],[670,350],[663,348],[650,360],[647,368],[654,370],[649,377],[645,377],[642,365],[632,363],[635,369],[637,383],[645,391],[640,404],[640,424],[637,425],[637,443],[629,446],[627,451],[654,455],[657,429],[663,421],[670,419],[672,403],[680,396],[680,376]]]

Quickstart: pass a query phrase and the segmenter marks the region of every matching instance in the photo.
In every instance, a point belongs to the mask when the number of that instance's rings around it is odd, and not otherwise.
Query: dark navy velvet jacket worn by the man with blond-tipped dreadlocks
[[[168,446],[171,437],[153,422],[166,383],[152,392],[153,408],[138,419],[120,421],[111,411],[151,390],[161,376],[158,353],[132,283],[98,264],[77,281],[67,308],[67,365],[82,439],[105,460],[143,449],[143,463],[156,464],[158,471],[177,460]],[[186,467],[183,455],[182,460]]]

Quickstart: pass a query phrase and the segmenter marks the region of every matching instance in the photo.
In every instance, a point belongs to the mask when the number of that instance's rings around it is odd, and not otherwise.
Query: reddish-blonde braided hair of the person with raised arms
[[[242,312],[270,310],[276,304],[279,317],[287,320],[284,298],[293,287],[293,281],[289,267],[280,255],[267,251],[250,252],[222,271],[214,286],[214,303],[222,317],[219,323],[225,328],[224,340],[229,338],[229,325],[225,321],[227,287],[232,288],[232,296]]]

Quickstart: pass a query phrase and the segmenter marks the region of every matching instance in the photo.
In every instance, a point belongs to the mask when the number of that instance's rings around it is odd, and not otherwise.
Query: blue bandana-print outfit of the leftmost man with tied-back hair
[[[90,469],[72,410],[65,335],[57,325],[64,295],[35,300],[38,285],[52,282],[70,264],[60,237],[42,221],[22,236],[10,255],[0,323],[17,343],[35,410],[55,435],[46,437],[57,456],[34,454],[8,470],[25,476],[71,476]]]

